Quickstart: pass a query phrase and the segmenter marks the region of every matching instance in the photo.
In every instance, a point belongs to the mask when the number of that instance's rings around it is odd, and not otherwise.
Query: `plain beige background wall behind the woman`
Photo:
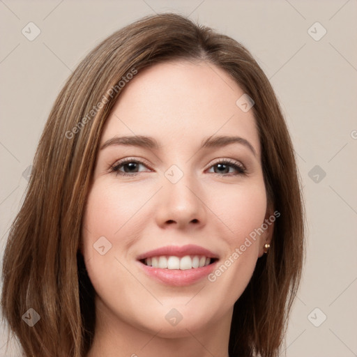
[[[162,11],[190,14],[241,41],[282,103],[298,154],[309,228],[286,356],[357,356],[356,0],[0,0],[0,258],[26,188],[23,172],[66,78],[100,40]],[[41,31],[33,41],[22,34],[29,22]],[[312,36],[324,29],[312,26],[315,22],[327,31],[319,40]],[[315,165],[320,172],[311,172]],[[6,354],[0,327],[0,356],[21,356],[16,349]]]

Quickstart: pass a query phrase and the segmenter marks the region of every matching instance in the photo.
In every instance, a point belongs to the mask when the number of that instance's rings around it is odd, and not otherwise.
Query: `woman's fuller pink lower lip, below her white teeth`
[[[144,272],[151,278],[163,282],[164,284],[172,285],[174,287],[184,287],[201,280],[213,271],[218,261],[214,261],[208,266],[202,268],[191,268],[181,271],[180,269],[162,269],[147,266],[139,261],[140,266]]]

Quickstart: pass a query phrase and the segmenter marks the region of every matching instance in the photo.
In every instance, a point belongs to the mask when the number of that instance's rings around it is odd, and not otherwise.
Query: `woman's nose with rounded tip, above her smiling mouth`
[[[155,220],[159,227],[185,229],[203,227],[206,223],[204,194],[199,183],[185,174],[177,183],[164,176],[158,192]]]

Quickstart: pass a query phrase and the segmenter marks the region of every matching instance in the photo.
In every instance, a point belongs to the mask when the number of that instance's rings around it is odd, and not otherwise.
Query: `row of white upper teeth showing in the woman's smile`
[[[147,266],[152,266],[153,268],[180,269],[184,271],[207,266],[211,263],[211,258],[204,257],[203,255],[185,255],[185,257],[181,258],[174,255],[170,255],[169,257],[162,255],[160,257],[147,258],[144,262]]]

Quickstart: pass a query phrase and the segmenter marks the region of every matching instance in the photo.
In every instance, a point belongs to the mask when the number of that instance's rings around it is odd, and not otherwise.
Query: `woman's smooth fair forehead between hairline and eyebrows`
[[[147,135],[169,149],[175,144],[193,147],[211,135],[238,135],[259,154],[253,112],[243,112],[236,105],[243,94],[225,70],[211,63],[155,64],[122,89],[101,143],[115,135]]]

